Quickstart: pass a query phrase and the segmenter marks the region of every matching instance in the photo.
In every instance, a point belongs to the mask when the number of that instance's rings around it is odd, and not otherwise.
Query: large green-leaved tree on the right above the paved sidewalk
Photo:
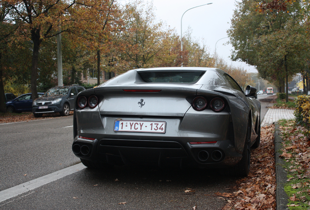
[[[289,4],[286,11],[256,11],[252,0],[237,3],[228,31],[234,47],[232,60],[253,66],[260,75],[276,80],[284,91],[284,78],[304,68],[307,39],[301,22],[300,4]],[[288,96],[287,96],[288,100]]]

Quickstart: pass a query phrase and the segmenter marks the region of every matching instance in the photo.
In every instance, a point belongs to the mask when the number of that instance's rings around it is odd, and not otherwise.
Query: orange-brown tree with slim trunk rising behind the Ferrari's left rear
[[[110,36],[122,30],[120,10],[116,0],[86,0],[83,5],[75,7],[78,8],[74,16],[83,17],[82,21],[79,20],[82,24],[76,26],[80,30],[78,36],[88,43],[89,51],[96,53],[93,57],[97,62],[97,84],[100,84],[101,67],[106,65],[101,59],[113,44]]]

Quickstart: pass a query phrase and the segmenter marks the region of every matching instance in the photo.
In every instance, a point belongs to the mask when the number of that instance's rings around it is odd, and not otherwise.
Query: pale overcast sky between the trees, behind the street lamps
[[[152,0],[145,0],[152,1]],[[209,5],[197,7],[187,11],[182,19],[182,34],[191,27],[192,36],[209,47],[214,54],[215,43],[227,37],[227,30],[231,26],[231,18],[235,7],[235,0],[153,0],[157,20],[162,20],[176,32],[181,34],[181,17],[183,13],[195,6],[206,3]],[[253,66],[244,62],[230,60],[232,46],[226,44],[229,38],[221,39],[216,44],[216,53],[222,57],[228,65],[241,67],[250,72],[257,72]],[[225,44],[225,45],[223,45]]]

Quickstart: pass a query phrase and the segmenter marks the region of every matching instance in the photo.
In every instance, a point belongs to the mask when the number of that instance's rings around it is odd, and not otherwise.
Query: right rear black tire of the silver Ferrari
[[[229,174],[232,176],[248,176],[251,164],[251,119],[248,122],[248,130],[242,152],[242,159],[237,165],[229,169]]]

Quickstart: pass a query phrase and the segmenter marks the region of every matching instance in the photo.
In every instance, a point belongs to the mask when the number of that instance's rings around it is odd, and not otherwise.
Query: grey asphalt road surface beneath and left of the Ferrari
[[[70,116],[0,125],[0,198],[80,162],[71,150],[72,122]],[[42,186],[0,201],[0,209],[220,210],[226,201],[215,193],[231,192],[236,180],[213,170],[86,168],[54,181],[44,178]]]

